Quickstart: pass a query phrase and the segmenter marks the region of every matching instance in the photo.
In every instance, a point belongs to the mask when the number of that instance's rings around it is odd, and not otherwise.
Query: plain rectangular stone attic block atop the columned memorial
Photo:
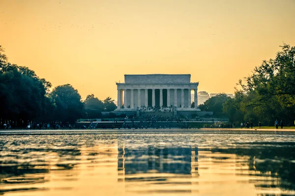
[[[173,84],[190,83],[190,74],[125,74],[125,84]]]

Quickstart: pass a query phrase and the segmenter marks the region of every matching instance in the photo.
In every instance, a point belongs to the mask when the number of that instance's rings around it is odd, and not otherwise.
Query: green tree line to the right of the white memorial
[[[231,123],[253,122],[273,126],[295,123],[295,47],[284,44],[274,59],[264,60],[239,80],[234,98],[219,94],[199,105],[203,111],[229,118]]]

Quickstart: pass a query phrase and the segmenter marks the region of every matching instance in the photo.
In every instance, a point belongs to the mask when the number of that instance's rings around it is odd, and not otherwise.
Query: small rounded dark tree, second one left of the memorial
[[[84,118],[99,118],[103,109],[103,102],[101,100],[94,97],[93,94],[88,95],[84,101]]]

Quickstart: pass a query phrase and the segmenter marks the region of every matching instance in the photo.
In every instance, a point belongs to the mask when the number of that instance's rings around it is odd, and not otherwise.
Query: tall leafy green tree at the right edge
[[[263,61],[253,73],[239,80],[245,97],[241,110],[251,118],[272,125],[276,119],[291,124],[295,119],[295,47],[284,44],[274,59]]]

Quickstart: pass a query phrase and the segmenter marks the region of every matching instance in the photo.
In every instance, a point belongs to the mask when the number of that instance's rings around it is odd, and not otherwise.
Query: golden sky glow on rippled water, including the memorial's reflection
[[[249,156],[212,152],[202,147],[81,147],[76,156],[44,153],[31,165],[34,174],[6,178],[5,196],[256,196],[295,194],[276,186],[280,179],[249,170]],[[21,169],[23,166],[19,166]],[[254,164],[255,167],[255,164]],[[3,181],[3,179],[2,179]],[[267,186],[269,185],[269,186]],[[18,191],[21,190],[21,191]]]

